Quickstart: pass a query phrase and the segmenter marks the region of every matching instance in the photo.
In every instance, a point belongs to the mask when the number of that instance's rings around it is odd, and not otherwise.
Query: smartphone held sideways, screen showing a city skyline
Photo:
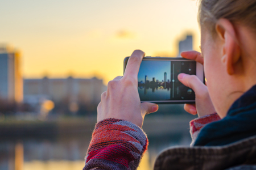
[[[123,73],[129,57],[124,59]],[[170,57],[144,57],[138,73],[138,92],[141,102],[157,104],[195,103],[195,92],[177,79],[180,73],[194,74],[204,82],[201,63]]]

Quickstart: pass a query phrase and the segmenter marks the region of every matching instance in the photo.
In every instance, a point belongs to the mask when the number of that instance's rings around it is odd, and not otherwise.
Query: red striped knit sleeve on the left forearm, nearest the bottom
[[[93,131],[83,170],[137,169],[147,146],[147,136],[137,125],[114,118],[102,120]]]

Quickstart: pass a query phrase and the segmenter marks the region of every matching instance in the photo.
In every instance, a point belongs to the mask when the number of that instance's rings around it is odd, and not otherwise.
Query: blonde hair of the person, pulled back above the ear
[[[256,0],[200,0],[199,23],[213,34],[218,19],[241,23],[256,32]]]

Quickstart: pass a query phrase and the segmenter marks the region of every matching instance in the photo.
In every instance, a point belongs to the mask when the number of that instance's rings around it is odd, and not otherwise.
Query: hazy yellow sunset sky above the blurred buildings
[[[197,1],[0,1],[0,44],[22,52],[24,78],[123,75],[135,49],[175,57],[178,41],[194,36],[199,50]]]

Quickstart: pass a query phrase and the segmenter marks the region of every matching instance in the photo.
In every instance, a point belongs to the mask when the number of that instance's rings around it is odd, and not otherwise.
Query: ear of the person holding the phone
[[[221,61],[229,75],[235,73],[235,65],[241,57],[240,46],[234,25],[228,20],[221,18],[216,23],[216,32],[222,43]]]

